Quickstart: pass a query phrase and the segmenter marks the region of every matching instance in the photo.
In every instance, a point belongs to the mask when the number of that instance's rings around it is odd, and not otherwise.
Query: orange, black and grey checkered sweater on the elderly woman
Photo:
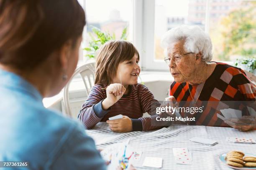
[[[241,110],[243,115],[248,115],[248,110],[242,101],[251,101],[255,104],[256,86],[246,77],[245,72],[225,63],[216,63],[215,70],[205,81],[204,86],[202,84],[192,86],[186,82],[174,81],[170,87],[170,95],[174,96],[177,102],[183,103],[179,107],[187,105],[182,101],[191,104],[192,96],[196,100],[200,94],[196,102],[197,107],[202,105],[207,105],[207,107],[201,113],[190,115],[190,117],[196,117],[195,125],[227,126],[223,120],[217,117],[217,113],[220,113],[218,108],[220,103],[237,101],[233,102],[236,103],[233,109]],[[181,115],[185,116],[184,113]]]

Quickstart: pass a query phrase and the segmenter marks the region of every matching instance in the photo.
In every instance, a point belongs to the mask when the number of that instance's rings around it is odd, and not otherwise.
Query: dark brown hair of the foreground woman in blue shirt
[[[74,47],[84,25],[77,0],[0,0],[0,63],[32,70],[68,40]]]

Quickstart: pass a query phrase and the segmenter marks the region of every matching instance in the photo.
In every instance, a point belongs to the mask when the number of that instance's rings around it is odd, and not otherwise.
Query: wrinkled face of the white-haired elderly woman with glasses
[[[186,54],[191,51],[184,51],[184,41],[173,43],[167,48],[167,55],[170,60],[169,69],[176,82],[187,82],[191,79],[196,67],[196,54]],[[174,55],[180,54],[179,62],[175,62]]]

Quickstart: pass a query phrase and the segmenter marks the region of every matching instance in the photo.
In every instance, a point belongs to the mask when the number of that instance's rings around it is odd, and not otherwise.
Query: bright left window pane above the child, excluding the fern
[[[123,31],[127,30],[126,39],[131,40],[129,27],[133,18],[133,1],[132,0],[86,0],[85,10],[87,18],[87,27],[84,34],[84,45],[89,46],[92,36],[97,38],[93,29],[97,28],[107,32],[110,39],[119,40]],[[123,39],[123,38],[122,38]],[[100,42],[97,42],[100,43]],[[85,55],[94,55],[92,51],[84,52]]]

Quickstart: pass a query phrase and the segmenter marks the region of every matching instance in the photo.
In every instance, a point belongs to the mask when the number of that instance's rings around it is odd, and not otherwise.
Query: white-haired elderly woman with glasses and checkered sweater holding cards
[[[242,128],[241,130],[253,128],[237,127],[237,122],[232,124],[233,122],[224,122],[217,117],[220,105],[214,105],[214,102],[223,104],[223,101],[249,101],[255,107],[256,86],[240,68],[221,62],[210,62],[212,43],[207,33],[198,26],[182,25],[167,31],[162,45],[166,53],[164,60],[174,77],[169,100],[207,105],[203,112],[193,115],[196,125],[226,126],[228,123],[234,128]],[[210,102],[203,101],[213,102],[209,104]]]

